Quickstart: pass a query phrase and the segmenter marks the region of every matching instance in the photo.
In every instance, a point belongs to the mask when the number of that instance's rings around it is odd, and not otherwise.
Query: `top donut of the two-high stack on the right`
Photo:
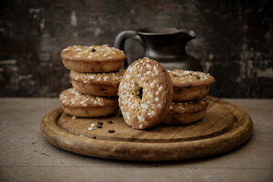
[[[173,83],[173,101],[200,99],[207,95],[210,85],[216,81],[214,76],[198,71],[175,69],[168,74]]]

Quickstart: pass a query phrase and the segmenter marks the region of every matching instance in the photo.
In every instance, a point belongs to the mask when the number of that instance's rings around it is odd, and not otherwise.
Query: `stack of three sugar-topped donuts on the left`
[[[73,86],[59,96],[64,112],[73,118],[115,114],[124,52],[108,45],[74,45],[62,50],[61,58]]]

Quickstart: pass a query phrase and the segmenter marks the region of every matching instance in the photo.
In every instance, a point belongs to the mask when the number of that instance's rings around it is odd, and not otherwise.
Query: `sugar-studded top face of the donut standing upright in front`
[[[125,122],[130,125],[132,120],[137,120],[140,129],[146,128],[147,121],[160,112],[162,94],[166,93],[155,62],[147,57],[137,60],[127,68],[119,85],[119,106]]]

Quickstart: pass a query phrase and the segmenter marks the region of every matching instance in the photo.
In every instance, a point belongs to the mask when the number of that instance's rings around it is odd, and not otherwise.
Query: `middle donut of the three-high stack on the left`
[[[117,96],[117,89],[125,70],[116,73],[88,74],[71,70],[72,86],[83,94],[93,96]]]

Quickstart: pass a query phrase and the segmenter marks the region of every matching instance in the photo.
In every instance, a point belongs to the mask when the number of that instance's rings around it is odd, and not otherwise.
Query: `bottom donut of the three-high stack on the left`
[[[59,99],[64,113],[77,117],[98,117],[115,114],[118,109],[117,98],[84,95],[75,88],[64,90]]]

